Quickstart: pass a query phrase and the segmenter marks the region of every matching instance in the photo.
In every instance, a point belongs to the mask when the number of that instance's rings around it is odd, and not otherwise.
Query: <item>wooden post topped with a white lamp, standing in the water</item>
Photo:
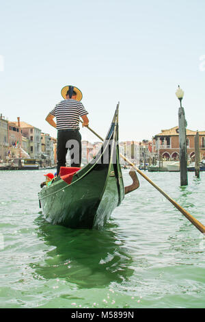
[[[187,136],[186,127],[187,121],[185,119],[184,108],[182,108],[182,99],[184,97],[184,92],[178,86],[176,90],[176,97],[180,101],[180,108],[178,109],[178,127],[179,127],[179,147],[180,147],[180,184],[181,186],[188,185],[187,177]]]

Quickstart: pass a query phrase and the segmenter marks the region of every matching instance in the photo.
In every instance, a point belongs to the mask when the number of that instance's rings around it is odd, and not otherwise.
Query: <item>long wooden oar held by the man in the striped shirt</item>
[[[83,123],[81,121],[81,123]],[[90,131],[95,134],[98,138],[100,138],[100,140],[104,141],[104,139],[99,136],[93,129],[91,129],[89,126],[87,126],[87,129],[90,129]],[[202,223],[200,223],[200,221],[197,221],[197,219],[195,219],[191,214],[189,214],[189,212],[187,212],[187,210],[185,210],[184,208],[182,208],[176,201],[174,201],[174,199],[170,198],[169,195],[167,195],[167,193],[165,193],[161,188],[159,188],[159,186],[156,186],[156,184],[154,184],[154,182],[152,182],[152,180],[147,177],[143,172],[141,172],[137,166],[135,166],[135,164],[133,164],[130,160],[128,160],[128,158],[126,158],[125,156],[122,155],[122,153],[120,153],[120,157],[122,159],[124,159],[128,164],[130,164],[131,166],[133,166],[133,168],[144,178],[146,179],[150,184],[152,184],[152,186],[154,186],[154,188],[156,188],[156,190],[158,190],[165,198],[167,198],[167,200],[169,200],[174,207],[176,207],[189,221],[191,221],[191,223],[193,225],[195,225],[195,227],[200,230],[200,232],[202,232],[203,234],[205,233],[205,226],[202,225]]]

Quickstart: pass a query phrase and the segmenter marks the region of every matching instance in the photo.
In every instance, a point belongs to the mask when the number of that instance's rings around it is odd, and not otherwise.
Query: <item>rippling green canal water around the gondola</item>
[[[92,231],[44,221],[45,173],[0,172],[1,308],[205,308],[205,238],[143,177]],[[205,173],[146,175],[205,224]]]

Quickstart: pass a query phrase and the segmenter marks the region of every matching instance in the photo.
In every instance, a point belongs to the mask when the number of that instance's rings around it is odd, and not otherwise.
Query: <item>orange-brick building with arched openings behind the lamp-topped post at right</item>
[[[195,159],[194,137],[196,131],[187,129],[187,156],[192,161]],[[205,159],[205,131],[199,131],[200,157]],[[163,160],[179,160],[179,128],[162,129],[152,138],[152,152],[161,156]]]

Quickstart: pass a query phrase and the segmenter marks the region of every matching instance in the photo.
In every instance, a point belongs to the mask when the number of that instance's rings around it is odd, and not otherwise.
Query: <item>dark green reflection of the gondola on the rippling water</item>
[[[72,230],[36,219],[37,234],[46,245],[44,263],[31,264],[46,280],[63,278],[80,288],[103,288],[111,282],[123,282],[133,274],[133,259],[124,249],[122,237],[107,230]]]

